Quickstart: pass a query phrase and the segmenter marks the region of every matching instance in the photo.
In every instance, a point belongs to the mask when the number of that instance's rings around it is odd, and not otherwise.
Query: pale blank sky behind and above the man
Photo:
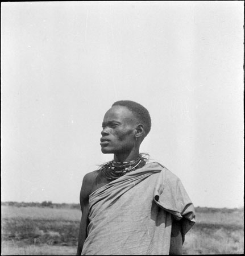
[[[2,201],[79,203],[117,100],[194,205],[243,206],[243,1],[1,3]]]

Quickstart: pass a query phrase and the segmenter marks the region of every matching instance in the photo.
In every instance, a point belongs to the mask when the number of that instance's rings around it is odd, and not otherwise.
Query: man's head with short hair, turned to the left
[[[138,151],[151,129],[147,109],[134,101],[117,101],[106,112],[102,123],[101,151],[128,154]]]

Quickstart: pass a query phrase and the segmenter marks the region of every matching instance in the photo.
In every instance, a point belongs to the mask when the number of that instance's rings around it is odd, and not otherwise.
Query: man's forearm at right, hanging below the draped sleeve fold
[[[182,240],[181,221],[173,220],[169,254],[181,255],[182,244],[183,244],[183,240]]]

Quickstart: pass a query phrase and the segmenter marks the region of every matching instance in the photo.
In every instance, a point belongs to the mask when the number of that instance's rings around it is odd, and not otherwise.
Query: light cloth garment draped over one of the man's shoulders
[[[192,201],[176,175],[148,163],[89,196],[82,255],[169,254],[172,218],[183,218],[184,237],[195,223]]]

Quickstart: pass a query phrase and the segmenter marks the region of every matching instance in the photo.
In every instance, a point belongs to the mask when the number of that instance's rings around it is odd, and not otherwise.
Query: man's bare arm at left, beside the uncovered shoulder
[[[82,247],[84,246],[84,242],[87,234],[87,227],[89,224],[88,214],[89,214],[89,193],[91,191],[91,180],[89,174],[84,176],[82,180],[82,187],[80,192],[80,205],[82,210],[82,217],[80,222],[80,229],[78,234],[78,246],[77,246],[77,254],[81,255]]]

